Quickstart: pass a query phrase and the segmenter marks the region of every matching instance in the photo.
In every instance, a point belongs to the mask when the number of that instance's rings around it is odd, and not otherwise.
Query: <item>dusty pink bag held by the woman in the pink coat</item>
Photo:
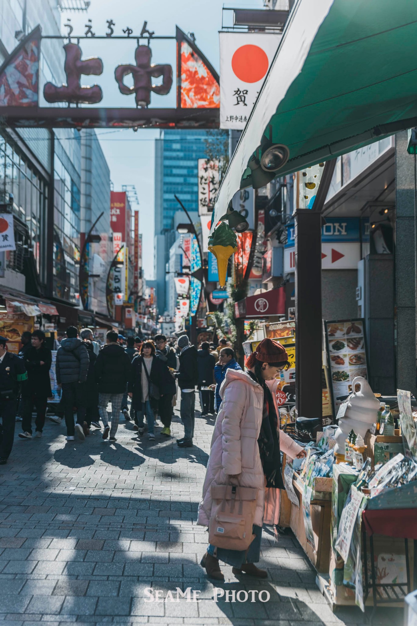
[[[247,550],[252,531],[258,489],[239,485],[212,485],[209,543],[217,548]]]

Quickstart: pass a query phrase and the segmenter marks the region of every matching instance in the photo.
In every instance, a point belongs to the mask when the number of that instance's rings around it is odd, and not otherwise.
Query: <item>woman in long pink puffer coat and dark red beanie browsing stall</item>
[[[224,580],[219,560],[233,565],[233,573],[246,573],[264,578],[268,574],[254,563],[260,558],[261,533],[264,521],[276,523],[276,515],[264,520],[265,488],[274,495],[284,488],[281,471],[281,452],[291,458],[304,456],[301,448],[286,433],[279,430],[276,406],[276,376],[288,367],[284,347],[271,339],[264,339],[256,352],[248,358],[247,372],[229,369],[221,384],[223,399],[214,426],[203,497],[198,508],[198,524],[209,525],[211,515],[211,486],[226,485],[228,478],[243,487],[258,489],[253,520],[254,540],[248,551],[226,550],[208,546],[201,565],[211,578]],[[271,394],[271,391],[273,392]],[[273,503],[277,498],[272,498]],[[273,511],[276,514],[276,511]],[[270,516],[270,515],[269,515]]]

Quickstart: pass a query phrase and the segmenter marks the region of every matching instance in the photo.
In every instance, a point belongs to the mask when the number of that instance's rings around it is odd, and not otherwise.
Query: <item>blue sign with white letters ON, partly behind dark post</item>
[[[359,217],[329,217],[321,228],[321,241],[327,244],[348,244],[350,242],[369,242],[369,220]],[[286,248],[293,248],[294,224],[287,227]]]

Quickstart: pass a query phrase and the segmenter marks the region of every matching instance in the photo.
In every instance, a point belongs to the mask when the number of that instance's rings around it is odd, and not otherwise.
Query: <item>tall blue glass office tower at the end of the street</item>
[[[228,136],[227,131],[218,133]],[[166,264],[176,239],[174,214],[184,207],[198,210],[198,159],[207,156],[208,131],[164,130],[155,141],[155,273],[159,314],[166,310]],[[184,214],[184,222],[187,222]]]

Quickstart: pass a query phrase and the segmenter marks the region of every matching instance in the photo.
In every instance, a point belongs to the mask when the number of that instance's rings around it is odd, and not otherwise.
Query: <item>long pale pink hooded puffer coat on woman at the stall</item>
[[[278,415],[274,393],[277,384],[278,381],[268,382]],[[226,485],[228,475],[239,475],[239,485],[258,489],[254,525],[262,526],[263,521],[277,523],[278,490],[268,490],[273,493],[267,507],[268,519],[264,520],[265,480],[258,448],[263,411],[262,387],[247,372],[228,369],[220,387],[220,396],[223,402],[211,438],[197,523],[201,526],[209,525],[212,505],[211,485]],[[279,444],[281,450],[291,458],[302,449],[283,431],[279,431]]]

